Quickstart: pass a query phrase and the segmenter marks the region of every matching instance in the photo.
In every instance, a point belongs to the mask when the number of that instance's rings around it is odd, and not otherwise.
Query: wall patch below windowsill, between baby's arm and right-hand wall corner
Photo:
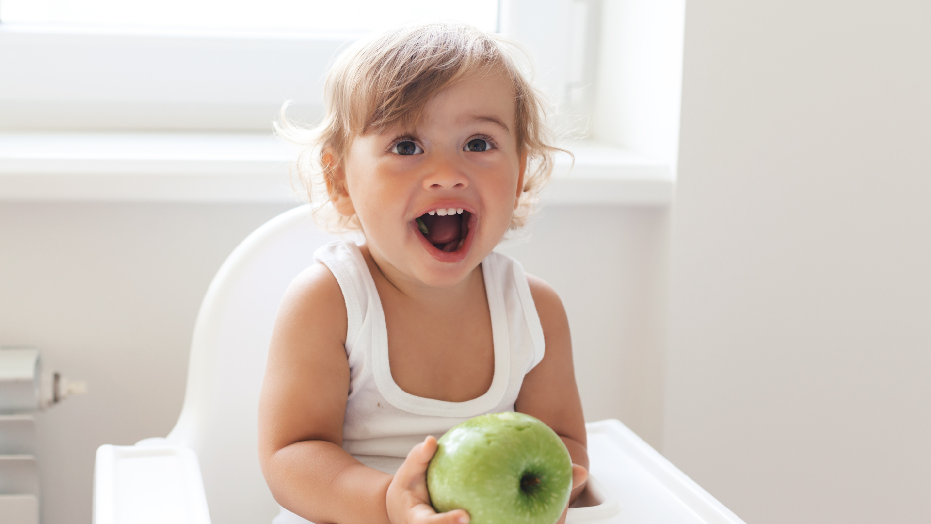
[[[560,293],[587,421],[620,419],[659,447],[668,208],[552,206],[514,256]]]

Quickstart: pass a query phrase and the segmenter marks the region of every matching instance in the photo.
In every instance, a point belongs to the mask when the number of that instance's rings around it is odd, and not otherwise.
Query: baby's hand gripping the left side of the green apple
[[[437,452],[437,439],[427,436],[414,446],[388,486],[385,503],[393,524],[468,524],[466,510],[437,513],[426,490],[426,466]],[[574,476],[573,476],[574,480]]]

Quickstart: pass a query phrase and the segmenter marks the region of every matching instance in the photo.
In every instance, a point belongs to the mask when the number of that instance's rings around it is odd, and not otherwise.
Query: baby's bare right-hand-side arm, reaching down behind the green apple
[[[527,282],[543,325],[546,353],[540,364],[524,377],[514,407],[520,413],[546,422],[569,448],[573,458],[573,494],[570,501],[574,501],[585,489],[588,452],[582,401],[575,386],[569,320],[560,296],[548,283],[533,275],[527,275]]]

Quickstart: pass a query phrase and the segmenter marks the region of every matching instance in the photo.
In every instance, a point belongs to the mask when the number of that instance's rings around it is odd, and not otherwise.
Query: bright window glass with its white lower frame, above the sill
[[[2,0],[0,129],[268,131],[359,34],[425,18],[494,30],[497,0]],[[393,8],[394,7],[394,8]],[[321,30],[326,30],[325,32]]]

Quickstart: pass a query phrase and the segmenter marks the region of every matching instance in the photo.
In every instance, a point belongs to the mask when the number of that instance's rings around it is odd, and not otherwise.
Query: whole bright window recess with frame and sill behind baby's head
[[[290,117],[316,120],[322,76],[347,44],[374,26],[446,17],[523,43],[560,128],[594,139],[573,147],[573,176],[551,195],[668,201],[683,0],[406,0],[403,14],[393,6],[0,0],[0,200],[290,198],[290,152],[271,153],[268,142],[282,103],[294,103]],[[568,172],[568,159],[557,163]]]

